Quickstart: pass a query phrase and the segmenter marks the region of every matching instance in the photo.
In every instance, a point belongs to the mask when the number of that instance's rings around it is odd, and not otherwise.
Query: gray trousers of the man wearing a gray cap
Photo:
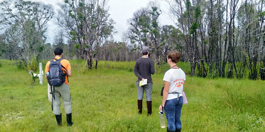
[[[145,91],[146,101],[152,101],[153,83],[147,83],[146,85],[140,87],[139,82],[136,82],[136,86],[137,86],[137,93],[138,93],[137,100],[143,100],[144,91]]]

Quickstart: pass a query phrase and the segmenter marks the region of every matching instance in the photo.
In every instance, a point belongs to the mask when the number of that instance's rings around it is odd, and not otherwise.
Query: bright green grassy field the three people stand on
[[[82,71],[83,62],[71,60],[74,125],[67,127],[61,104],[63,126],[58,127],[48,102],[46,80],[42,86],[38,80],[30,86],[27,72],[17,69],[15,62],[0,61],[0,131],[166,131],[160,128],[158,107],[162,79],[169,67],[152,76],[153,114],[147,117],[145,101],[143,114],[138,115],[136,76],[130,68],[117,68],[125,63],[110,62],[108,69],[108,62],[100,62],[98,70]],[[185,69],[185,65],[179,67]],[[265,131],[264,84],[260,80],[187,76],[184,89],[189,103],[182,108],[182,130]]]

